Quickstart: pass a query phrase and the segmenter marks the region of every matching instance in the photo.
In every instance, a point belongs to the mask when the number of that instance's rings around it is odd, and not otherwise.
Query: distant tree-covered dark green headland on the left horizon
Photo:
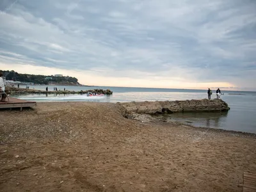
[[[4,70],[4,76],[6,80],[20,81],[22,83],[35,83],[35,84],[56,84],[56,85],[81,85],[78,83],[76,77],[69,76],[42,76],[42,75],[31,75],[31,74],[19,74],[14,70]]]

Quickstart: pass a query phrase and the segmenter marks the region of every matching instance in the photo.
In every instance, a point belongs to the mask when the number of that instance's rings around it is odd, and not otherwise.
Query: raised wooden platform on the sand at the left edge
[[[22,111],[22,108],[31,108],[36,106],[36,102],[34,101],[22,100],[13,97],[8,97],[8,99],[6,98],[6,102],[0,102],[0,109],[20,108],[20,111]]]

